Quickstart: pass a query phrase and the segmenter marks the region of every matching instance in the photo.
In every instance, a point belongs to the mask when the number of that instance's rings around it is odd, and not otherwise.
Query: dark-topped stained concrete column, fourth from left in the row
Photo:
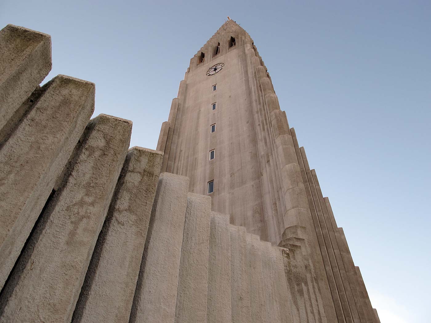
[[[128,321],[162,159],[155,150],[129,149],[72,322]]]

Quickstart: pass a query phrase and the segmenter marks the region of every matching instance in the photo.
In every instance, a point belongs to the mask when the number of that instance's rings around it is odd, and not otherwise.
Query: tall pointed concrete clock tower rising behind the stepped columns
[[[231,224],[299,250],[297,275],[318,286],[305,296],[315,311],[300,322],[379,322],[267,68],[233,20],[190,60],[157,150],[162,171],[189,177],[189,191],[211,196]]]

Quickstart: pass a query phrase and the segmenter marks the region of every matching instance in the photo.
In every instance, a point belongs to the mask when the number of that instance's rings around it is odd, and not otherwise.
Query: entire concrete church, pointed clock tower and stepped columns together
[[[157,151],[0,31],[0,322],[378,323],[253,40],[191,59]],[[16,196],[19,196],[17,199]]]

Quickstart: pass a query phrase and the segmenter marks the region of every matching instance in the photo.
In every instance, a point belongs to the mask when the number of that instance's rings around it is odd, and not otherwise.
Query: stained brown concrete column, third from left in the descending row
[[[70,322],[131,135],[131,121],[87,126],[0,299],[0,322]]]

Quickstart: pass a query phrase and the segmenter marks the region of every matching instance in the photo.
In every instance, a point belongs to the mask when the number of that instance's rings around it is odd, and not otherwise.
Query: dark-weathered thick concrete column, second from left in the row
[[[94,111],[94,84],[59,75],[0,149],[0,286]]]

